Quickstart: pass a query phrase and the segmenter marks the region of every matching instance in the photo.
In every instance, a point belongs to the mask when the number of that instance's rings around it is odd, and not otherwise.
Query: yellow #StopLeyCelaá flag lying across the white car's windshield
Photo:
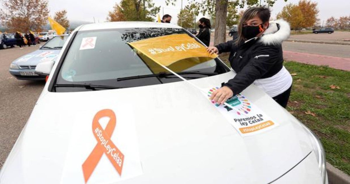
[[[217,57],[217,54],[209,54],[204,45],[188,34],[166,35],[128,44],[144,55],[139,54],[154,73],[164,71],[155,63],[179,72]]]

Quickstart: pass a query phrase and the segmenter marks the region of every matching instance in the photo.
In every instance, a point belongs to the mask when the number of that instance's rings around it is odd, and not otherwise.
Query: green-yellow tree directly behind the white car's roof
[[[159,10],[152,0],[121,0],[109,12],[107,21],[154,21]]]

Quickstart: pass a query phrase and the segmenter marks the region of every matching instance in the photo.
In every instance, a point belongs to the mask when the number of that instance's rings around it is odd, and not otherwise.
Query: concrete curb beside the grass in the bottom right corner
[[[350,176],[326,162],[328,181],[330,184],[350,184]]]

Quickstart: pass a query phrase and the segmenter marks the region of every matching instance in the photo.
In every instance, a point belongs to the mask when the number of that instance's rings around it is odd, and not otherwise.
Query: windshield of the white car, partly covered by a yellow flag
[[[181,81],[155,62],[151,61],[163,71],[157,72],[150,69],[146,64],[150,60],[145,55],[136,54],[135,50],[127,44],[127,42],[171,34],[187,33],[180,28],[127,28],[78,32],[69,46],[69,51],[57,75],[56,84],[89,83],[127,88]],[[96,39],[94,40],[96,44],[90,49],[83,48],[84,44],[89,44],[86,42],[87,39],[90,39],[90,43],[91,40]],[[198,57],[191,59],[198,60]],[[229,68],[219,59],[211,59],[177,72],[184,78],[197,79],[228,71],[230,71]],[[54,91],[76,90],[59,87]]]

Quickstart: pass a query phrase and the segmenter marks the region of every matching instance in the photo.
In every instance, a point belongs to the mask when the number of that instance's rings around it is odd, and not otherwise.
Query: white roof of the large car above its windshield
[[[79,30],[100,30],[100,29],[118,29],[118,28],[181,28],[180,26],[170,23],[159,22],[103,22],[83,25]]]

